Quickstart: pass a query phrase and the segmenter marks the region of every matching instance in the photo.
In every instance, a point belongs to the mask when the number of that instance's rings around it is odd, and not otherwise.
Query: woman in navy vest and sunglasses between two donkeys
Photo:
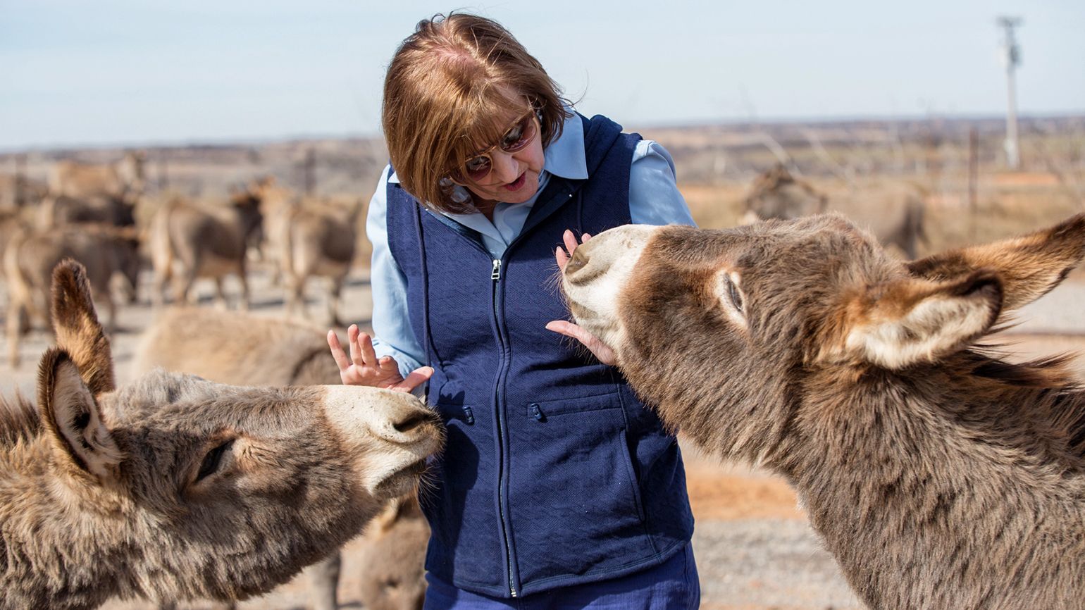
[[[669,155],[573,112],[511,34],[469,14],[403,42],[383,127],[376,339],[352,326],[349,358],[328,341],[344,383],[429,382],[447,424],[421,494],[425,607],[697,608],[677,442],[605,346],[562,320],[553,282],[570,228],[692,224]]]

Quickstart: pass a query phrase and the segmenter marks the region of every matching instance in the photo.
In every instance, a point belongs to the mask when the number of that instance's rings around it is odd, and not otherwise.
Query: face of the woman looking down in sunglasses
[[[476,180],[470,178],[458,178],[456,182],[467,187],[475,195],[476,204],[502,203],[524,203],[539,188],[539,174],[542,171],[545,161],[542,154],[541,126],[535,113],[529,114],[529,122],[534,136],[524,148],[514,152],[507,152],[502,149],[502,142],[494,142],[493,148],[486,151],[485,157],[489,158],[489,173],[485,177]],[[501,130],[507,136],[507,142],[514,140],[518,124],[524,118],[524,113],[507,113],[495,117],[501,126]]]

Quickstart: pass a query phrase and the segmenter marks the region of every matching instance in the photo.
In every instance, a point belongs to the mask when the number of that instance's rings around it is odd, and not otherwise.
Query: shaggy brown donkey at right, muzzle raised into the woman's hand
[[[978,341],[1083,256],[1085,215],[916,262],[835,215],[626,226],[562,288],[664,422],[791,482],[870,608],[1081,609],[1085,393]]]

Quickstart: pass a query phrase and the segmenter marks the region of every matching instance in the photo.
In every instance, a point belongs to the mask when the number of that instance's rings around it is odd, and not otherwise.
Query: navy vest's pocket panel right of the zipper
[[[509,420],[509,517],[521,570],[587,573],[651,552],[616,393],[521,404]]]

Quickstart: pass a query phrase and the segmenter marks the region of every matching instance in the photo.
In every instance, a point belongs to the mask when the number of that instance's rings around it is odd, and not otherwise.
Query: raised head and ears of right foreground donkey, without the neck
[[[625,226],[577,247],[562,288],[664,421],[756,459],[808,384],[944,364],[1083,255],[1085,215],[912,263],[835,215]]]

